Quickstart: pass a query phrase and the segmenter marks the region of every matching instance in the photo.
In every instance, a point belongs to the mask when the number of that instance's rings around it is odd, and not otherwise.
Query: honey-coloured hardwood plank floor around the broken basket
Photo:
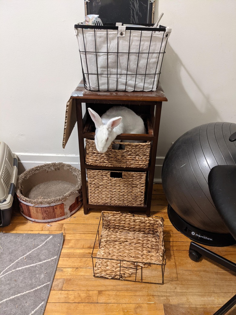
[[[28,221],[14,212],[9,233],[64,233],[65,242],[45,315],[211,315],[234,294],[233,272],[207,259],[188,257],[190,240],[171,225],[160,184],[154,185],[152,215],[164,221],[166,269],[164,284],[145,284],[93,277],[91,253],[100,212],[83,214],[81,208],[67,220]],[[207,247],[207,246],[206,246]],[[236,246],[210,248],[236,261]],[[227,314],[235,315],[236,308]],[[24,314],[23,314],[24,315]]]

